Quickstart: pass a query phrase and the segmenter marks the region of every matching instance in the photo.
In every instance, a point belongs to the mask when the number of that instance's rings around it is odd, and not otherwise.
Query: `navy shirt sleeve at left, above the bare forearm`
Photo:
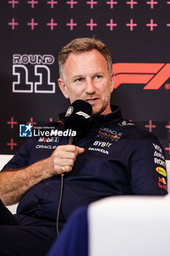
[[[26,167],[28,165],[28,159],[31,153],[31,148],[34,145],[35,140],[27,140],[26,143],[20,148],[20,150],[15,154],[12,159],[7,162],[2,168],[4,170],[15,170],[21,167]]]

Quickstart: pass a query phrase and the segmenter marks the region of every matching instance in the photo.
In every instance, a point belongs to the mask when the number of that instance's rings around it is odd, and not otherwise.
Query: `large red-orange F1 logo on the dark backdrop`
[[[145,90],[158,90],[170,78],[169,63],[115,63],[112,67],[115,72],[115,89],[121,84],[137,83],[145,84]]]

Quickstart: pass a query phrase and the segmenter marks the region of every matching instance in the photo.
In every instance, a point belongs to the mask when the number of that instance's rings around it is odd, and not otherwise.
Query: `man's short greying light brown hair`
[[[72,40],[61,49],[58,56],[60,77],[64,79],[64,64],[66,63],[69,54],[85,53],[86,51],[94,49],[98,50],[104,56],[104,59],[107,61],[109,74],[112,75],[112,56],[107,45],[96,38],[82,37]]]

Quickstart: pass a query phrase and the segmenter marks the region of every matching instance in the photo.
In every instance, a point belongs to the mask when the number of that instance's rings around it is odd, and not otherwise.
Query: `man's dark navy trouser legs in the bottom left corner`
[[[43,256],[55,238],[55,223],[12,215],[0,200],[1,256]]]

